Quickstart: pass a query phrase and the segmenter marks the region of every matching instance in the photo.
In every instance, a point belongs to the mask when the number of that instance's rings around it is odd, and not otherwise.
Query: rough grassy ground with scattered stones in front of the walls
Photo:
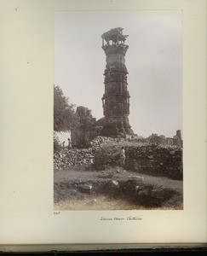
[[[55,171],[55,210],[181,209],[182,181],[127,172]]]

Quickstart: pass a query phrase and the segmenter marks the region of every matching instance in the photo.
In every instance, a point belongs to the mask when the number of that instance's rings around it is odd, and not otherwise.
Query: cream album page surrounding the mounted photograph
[[[206,242],[206,1],[0,0],[0,243]],[[184,210],[53,210],[54,26],[58,10],[181,9]],[[141,215],[138,222],[101,216]]]

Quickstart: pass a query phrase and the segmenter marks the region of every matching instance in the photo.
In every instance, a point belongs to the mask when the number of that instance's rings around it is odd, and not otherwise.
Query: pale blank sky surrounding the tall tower
[[[173,137],[182,129],[181,11],[56,12],[55,84],[71,103],[103,117],[101,34],[118,26],[129,35],[129,124],[139,136]]]

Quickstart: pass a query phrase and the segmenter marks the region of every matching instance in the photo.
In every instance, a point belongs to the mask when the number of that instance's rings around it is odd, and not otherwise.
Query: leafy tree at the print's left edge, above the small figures
[[[77,124],[75,109],[59,85],[54,86],[54,131],[69,131]]]

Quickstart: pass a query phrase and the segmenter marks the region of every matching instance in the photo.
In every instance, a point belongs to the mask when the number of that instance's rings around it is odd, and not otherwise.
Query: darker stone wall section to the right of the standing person
[[[150,175],[182,178],[182,148],[141,146],[127,147],[125,168]]]

